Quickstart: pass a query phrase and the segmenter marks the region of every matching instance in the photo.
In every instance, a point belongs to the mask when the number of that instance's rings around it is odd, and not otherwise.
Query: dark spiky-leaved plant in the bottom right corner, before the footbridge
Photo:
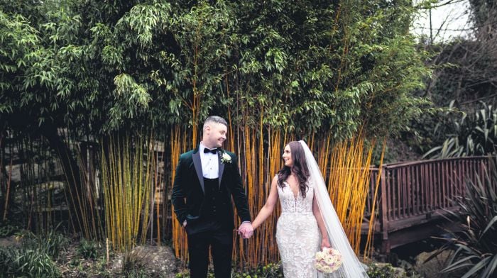
[[[460,232],[445,239],[443,250],[454,250],[442,273],[462,277],[491,278],[497,274],[497,157],[493,157],[483,177],[466,181],[464,196],[454,203],[459,207],[456,217]],[[432,255],[431,257],[435,257]],[[430,258],[431,258],[430,257]],[[430,258],[428,260],[430,260]]]

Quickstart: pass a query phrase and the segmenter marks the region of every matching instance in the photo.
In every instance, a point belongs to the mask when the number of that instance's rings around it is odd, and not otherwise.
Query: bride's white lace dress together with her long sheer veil
[[[310,177],[307,179],[305,197],[297,196],[285,182],[278,186],[281,215],[276,225],[276,243],[280,250],[285,278],[361,278],[368,277],[346,238],[342,223],[329,199],[317,162],[304,141],[299,141],[305,151]],[[320,250],[321,236],[312,212],[312,201],[320,208],[329,243],[342,254],[342,267],[331,274],[318,272],[314,267],[315,253]]]

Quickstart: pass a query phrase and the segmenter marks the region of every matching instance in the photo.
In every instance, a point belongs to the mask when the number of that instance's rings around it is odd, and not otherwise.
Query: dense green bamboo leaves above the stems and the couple
[[[2,3],[9,127],[95,135],[231,111],[234,123],[347,138],[421,112],[410,92],[428,70],[408,35],[410,1]]]

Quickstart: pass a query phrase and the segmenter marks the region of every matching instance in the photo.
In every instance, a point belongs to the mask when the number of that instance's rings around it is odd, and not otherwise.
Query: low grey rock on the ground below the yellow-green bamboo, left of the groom
[[[115,273],[123,269],[141,269],[148,277],[175,277],[176,257],[168,246],[137,246],[131,252],[116,256],[112,262]]]

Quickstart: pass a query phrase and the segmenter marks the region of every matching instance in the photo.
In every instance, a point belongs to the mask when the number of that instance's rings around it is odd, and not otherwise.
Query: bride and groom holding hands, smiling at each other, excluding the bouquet
[[[190,277],[207,277],[209,249],[215,277],[231,277],[231,199],[241,220],[238,232],[244,238],[251,237],[280,200],[275,237],[285,277],[368,277],[346,238],[307,144],[294,141],[285,146],[284,166],[271,182],[266,204],[251,221],[236,155],[222,149],[227,129],[224,118],[207,118],[199,146],[180,155],[176,168],[171,198],[187,233]],[[315,253],[330,247],[341,252],[342,266],[329,274],[318,272]]]

